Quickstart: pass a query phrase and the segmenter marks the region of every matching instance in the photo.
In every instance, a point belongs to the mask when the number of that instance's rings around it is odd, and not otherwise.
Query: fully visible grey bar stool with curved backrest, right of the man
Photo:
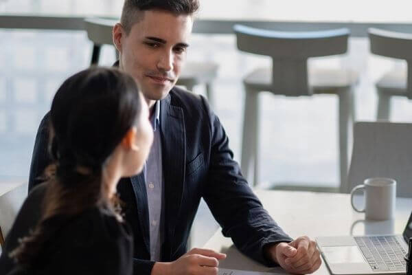
[[[339,97],[339,153],[341,184],[346,183],[348,163],[348,129],[354,120],[354,85],[358,74],[350,69],[308,70],[310,57],[331,56],[347,52],[349,30],[319,32],[277,32],[235,25],[238,49],[271,56],[272,67],[255,69],[244,80],[242,161],[244,177],[257,185],[260,91],[274,95],[312,96],[336,94]]]

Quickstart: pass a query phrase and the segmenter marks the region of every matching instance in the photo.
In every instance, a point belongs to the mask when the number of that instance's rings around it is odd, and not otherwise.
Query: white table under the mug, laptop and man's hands
[[[350,206],[350,195],[314,192],[266,191],[256,192],[264,208],[291,237],[307,235],[347,236],[350,234],[402,234],[412,210],[412,199],[396,199],[394,221],[365,221],[364,214]],[[359,198],[360,199],[360,198]],[[235,270],[283,272],[279,267],[268,268],[241,254],[230,238],[220,230],[205,244],[205,248],[227,253],[219,267]],[[315,274],[330,274],[325,263]]]

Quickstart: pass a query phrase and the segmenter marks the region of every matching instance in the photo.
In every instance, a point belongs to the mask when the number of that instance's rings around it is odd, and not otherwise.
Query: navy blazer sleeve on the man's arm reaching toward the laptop
[[[255,261],[273,265],[264,257],[264,245],[293,239],[264,210],[233,160],[225,129],[205,99],[202,100],[209,114],[211,133],[209,173],[203,197],[223,235],[231,237],[236,247]]]

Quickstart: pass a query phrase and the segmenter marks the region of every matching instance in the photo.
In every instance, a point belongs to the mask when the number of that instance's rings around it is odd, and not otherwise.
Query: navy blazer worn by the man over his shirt
[[[236,247],[262,263],[268,243],[291,241],[271,219],[233,160],[229,139],[207,100],[174,87],[161,104],[161,148],[165,196],[165,240],[162,261],[174,261],[187,251],[187,237],[201,197],[222,233]],[[30,168],[29,189],[50,163],[47,153],[48,114],[39,126]],[[143,173],[121,179],[117,186],[134,234],[134,274],[150,274],[148,200]]]

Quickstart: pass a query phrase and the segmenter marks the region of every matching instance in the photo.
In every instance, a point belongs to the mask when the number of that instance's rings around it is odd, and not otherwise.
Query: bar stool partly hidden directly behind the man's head
[[[113,45],[112,31],[116,22],[111,19],[84,19],[87,37],[93,42],[91,65],[98,65],[102,45]],[[116,58],[119,58],[117,50]],[[205,85],[209,104],[214,106],[213,81],[218,75],[218,65],[213,62],[187,62],[176,85],[183,85],[189,91],[196,85]]]

